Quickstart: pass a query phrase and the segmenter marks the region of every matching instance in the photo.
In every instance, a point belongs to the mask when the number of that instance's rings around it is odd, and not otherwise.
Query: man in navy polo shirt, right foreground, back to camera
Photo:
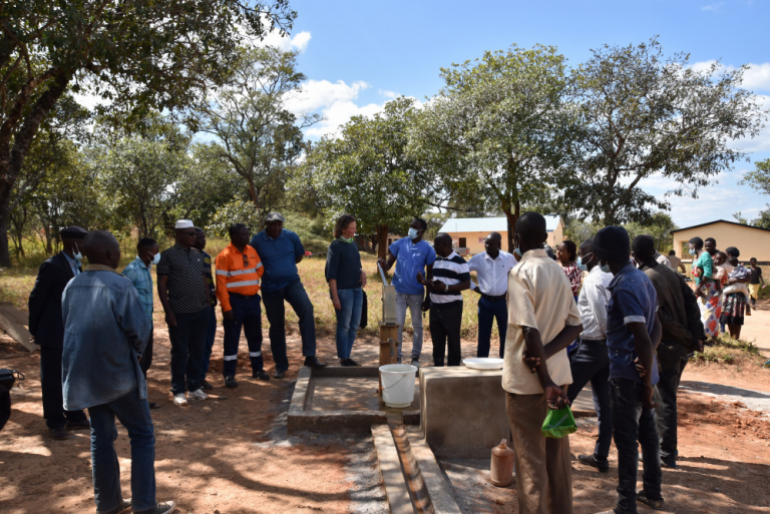
[[[607,304],[612,424],[618,449],[618,501],[614,512],[635,514],[637,501],[660,510],[660,442],[653,410],[653,386],[658,381],[655,349],[663,334],[657,293],[647,275],[630,263],[631,242],[626,229],[601,229],[594,238],[593,250],[601,270],[614,275]],[[644,463],[644,489],[638,493],[637,444],[642,446]]]

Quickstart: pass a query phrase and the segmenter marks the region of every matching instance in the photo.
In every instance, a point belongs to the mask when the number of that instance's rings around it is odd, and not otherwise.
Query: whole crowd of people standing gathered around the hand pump
[[[305,250],[284,218],[270,213],[265,228],[250,238],[246,225],[229,227],[230,244],[213,260],[206,236],[179,220],[175,244],[160,252],[141,239],[137,257],[119,274],[120,246],[106,231],[69,227],[61,231],[63,251],[39,270],[30,295],[30,332],[40,345],[43,412],[54,439],[90,429],[98,513],[133,510],[169,514],[174,502],[157,502],[154,433],[146,375],[153,354],[153,279],[171,341],[173,404],[205,400],[217,317],[224,328],[223,378],[238,387],[238,345],[244,332],[252,377],[270,380],[262,355],[262,307],[269,323],[275,362],[272,378],[289,368],[285,303],[299,318],[303,364],[326,366],[316,357],[313,304],[297,264]],[[756,259],[749,269],[737,248],[693,238],[693,286],[676,255],[661,255],[647,235],[630,241],[621,227],[605,227],[579,246],[565,240],[548,252],[545,219],[528,212],[516,222],[513,254],[502,237],[489,234],[485,251],[469,261],[453,249],[449,234],[433,244],[423,239],[427,223],[415,218],[407,237],[388,248],[378,265],[395,266],[398,359],[403,359],[403,325],[411,312],[412,365],[419,367],[422,317],[429,312],[434,366],[461,364],[462,291],[478,294],[476,354],[488,357],[495,320],[502,387],[515,449],[519,510],[572,512],[569,438],[545,438],[549,409],[575,400],[591,383],[599,437],[581,463],[607,472],[612,441],[618,450],[617,513],[636,512],[641,502],[661,509],[662,467],[677,460],[676,391],[692,354],[716,337],[723,325],[738,337],[743,319],[764,285]],[[367,277],[355,241],[356,219],[345,214],[335,225],[326,260],[329,298],[337,316],[340,366],[358,366],[353,346],[364,304]],[[87,257],[88,265],[81,260]],[[471,273],[475,273],[476,282]],[[85,411],[89,416],[86,417]],[[132,497],[125,500],[113,447],[115,419],[128,430],[132,452]],[[644,487],[636,491],[642,448]],[[612,512],[612,511],[608,511]]]

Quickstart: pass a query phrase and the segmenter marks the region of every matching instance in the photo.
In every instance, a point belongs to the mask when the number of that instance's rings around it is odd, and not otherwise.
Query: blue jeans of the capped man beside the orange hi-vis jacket
[[[297,280],[277,291],[262,290],[262,301],[265,302],[265,313],[270,323],[270,349],[273,352],[276,371],[289,369],[289,358],[286,356],[286,300],[297,313],[299,318],[299,333],[302,336],[302,355],[311,357],[315,355],[315,318],[313,318],[313,304],[302,286]]]

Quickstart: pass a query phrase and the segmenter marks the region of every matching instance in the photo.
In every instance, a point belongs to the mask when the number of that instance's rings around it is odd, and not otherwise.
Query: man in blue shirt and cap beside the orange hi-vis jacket
[[[299,318],[302,336],[302,355],[305,366],[319,369],[326,367],[315,355],[315,318],[313,304],[299,279],[297,264],[305,256],[305,248],[299,236],[283,228],[284,217],[271,212],[265,220],[265,230],[251,238],[251,246],[257,251],[265,274],[262,275],[262,301],[270,323],[270,349],[275,361],[275,378],[283,378],[289,369],[286,355],[286,308],[284,300]]]

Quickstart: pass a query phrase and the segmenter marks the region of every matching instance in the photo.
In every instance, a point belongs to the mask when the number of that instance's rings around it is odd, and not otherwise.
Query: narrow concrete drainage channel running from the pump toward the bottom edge
[[[372,426],[390,512],[460,514],[450,485],[419,431],[407,431],[403,424],[393,421]]]

